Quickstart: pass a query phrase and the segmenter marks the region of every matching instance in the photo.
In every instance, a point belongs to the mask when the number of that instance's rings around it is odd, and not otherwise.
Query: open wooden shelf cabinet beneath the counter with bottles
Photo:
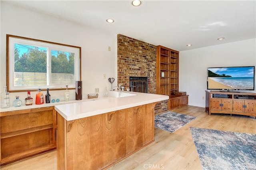
[[[54,107],[1,112],[1,165],[56,149],[56,118]]]

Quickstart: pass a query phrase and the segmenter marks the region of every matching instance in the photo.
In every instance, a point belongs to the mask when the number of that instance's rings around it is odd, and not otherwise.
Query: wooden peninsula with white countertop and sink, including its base
[[[58,169],[108,168],[154,141],[154,107],[169,97],[125,94],[55,106]]]

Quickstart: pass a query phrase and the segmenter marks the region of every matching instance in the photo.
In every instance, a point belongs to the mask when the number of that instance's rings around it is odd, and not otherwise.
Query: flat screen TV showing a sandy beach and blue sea
[[[255,66],[208,67],[208,90],[254,90]]]

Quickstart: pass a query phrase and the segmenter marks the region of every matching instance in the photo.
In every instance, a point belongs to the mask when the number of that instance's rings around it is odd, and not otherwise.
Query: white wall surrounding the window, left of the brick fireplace
[[[117,80],[115,71],[116,35],[99,32],[61,18],[27,10],[8,2],[1,1],[0,9],[1,92],[3,86],[6,85],[6,34],[82,47],[83,98],[87,98],[87,93],[94,93],[95,87],[100,88],[102,93],[105,86],[110,90],[109,77],[114,77]],[[108,46],[112,48],[111,51],[108,51]],[[106,74],[106,79],[103,78],[103,74]],[[63,96],[64,99],[64,91],[50,92],[52,97]],[[71,99],[75,99],[75,91],[72,90],[70,93]],[[15,99],[15,95],[20,95],[20,99],[25,99],[27,94],[26,92],[11,93],[11,103]],[[31,96],[35,97],[35,95],[36,92],[32,92]]]

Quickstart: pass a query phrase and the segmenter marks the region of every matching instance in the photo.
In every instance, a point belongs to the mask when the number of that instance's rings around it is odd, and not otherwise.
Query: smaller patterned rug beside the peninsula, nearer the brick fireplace
[[[194,119],[194,116],[168,111],[155,116],[155,127],[172,133]]]

